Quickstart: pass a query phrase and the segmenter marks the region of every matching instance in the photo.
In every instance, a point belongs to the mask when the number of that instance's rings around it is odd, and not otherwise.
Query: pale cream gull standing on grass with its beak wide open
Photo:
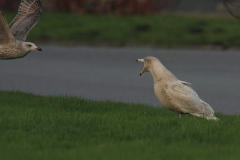
[[[144,72],[150,72],[154,80],[154,91],[161,104],[176,112],[181,118],[182,114],[192,114],[208,120],[218,120],[209,104],[202,101],[188,82],[178,80],[155,57],[138,59],[143,62]]]

